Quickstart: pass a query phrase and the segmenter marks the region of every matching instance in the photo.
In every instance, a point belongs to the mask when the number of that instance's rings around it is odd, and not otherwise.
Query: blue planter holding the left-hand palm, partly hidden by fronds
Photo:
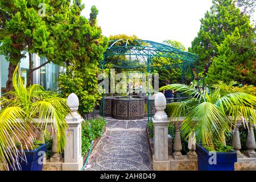
[[[43,152],[42,152],[43,151]],[[19,158],[19,163],[21,166],[21,171],[42,171],[43,169],[43,155],[46,154],[46,144],[40,144],[40,147],[35,150],[24,150],[24,155],[26,155],[27,162]],[[10,171],[14,171],[13,168],[10,167]],[[18,167],[16,167],[18,170]]]

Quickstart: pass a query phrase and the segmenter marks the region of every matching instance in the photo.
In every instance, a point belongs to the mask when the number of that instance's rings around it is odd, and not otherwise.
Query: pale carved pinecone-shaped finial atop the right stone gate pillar
[[[156,113],[154,115],[155,120],[168,119],[167,114],[164,111],[164,109],[166,109],[166,97],[161,92],[155,94],[155,109],[156,109]]]

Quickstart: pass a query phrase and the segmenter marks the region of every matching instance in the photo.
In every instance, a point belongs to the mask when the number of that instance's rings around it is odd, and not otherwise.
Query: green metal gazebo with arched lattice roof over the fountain
[[[191,70],[192,79],[192,68],[197,59],[198,56],[193,53],[180,51],[166,44],[150,40],[119,39],[109,41],[109,47],[104,53],[104,59],[100,61],[100,66],[102,69],[133,70],[146,73],[154,72],[155,69],[181,69],[182,82],[184,83],[185,71],[188,69]],[[105,94],[102,96],[103,107],[104,96]],[[147,96],[149,97],[149,92],[147,92]],[[102,109],[104,111],[104,108]]]

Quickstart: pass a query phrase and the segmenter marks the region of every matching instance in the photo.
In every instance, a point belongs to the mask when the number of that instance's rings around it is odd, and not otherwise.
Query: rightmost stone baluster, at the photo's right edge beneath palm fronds
[[[246,147],[247,147],[247,150],[245,151],[245,155],[248,156],[249,158],[256,158],[256,152],[255,152],[256,143],[255,143],[253,126],[249,126],[249,132],[246,140]]]

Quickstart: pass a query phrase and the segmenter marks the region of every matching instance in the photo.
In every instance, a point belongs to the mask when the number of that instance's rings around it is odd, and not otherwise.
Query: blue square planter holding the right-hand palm
[[[204,147],[196,144],[197,164],[199,171],[234,171],[237,152],[216,152],[209,154]]]

